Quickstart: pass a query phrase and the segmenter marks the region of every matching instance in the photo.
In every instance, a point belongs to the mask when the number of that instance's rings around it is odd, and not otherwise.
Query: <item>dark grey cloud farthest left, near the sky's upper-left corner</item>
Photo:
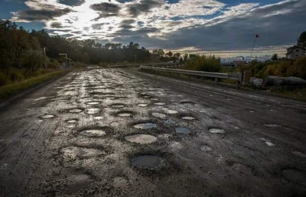
[[[13,13],[14,21],[49,21],[55,17],[63,16],[72,12],[70,8],[57,8],[54,5],[40,4],[42,9],[26,9]]]

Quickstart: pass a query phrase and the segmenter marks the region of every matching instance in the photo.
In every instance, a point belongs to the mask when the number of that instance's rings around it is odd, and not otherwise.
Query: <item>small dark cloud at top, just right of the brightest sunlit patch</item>
[[[99,12],[99,17],[95,18],[94,20],[97,21],[101,18],[107,18],[111,16],[118,16],[120,7],[113,3],[96,3],[90,5],[90,8]]]

